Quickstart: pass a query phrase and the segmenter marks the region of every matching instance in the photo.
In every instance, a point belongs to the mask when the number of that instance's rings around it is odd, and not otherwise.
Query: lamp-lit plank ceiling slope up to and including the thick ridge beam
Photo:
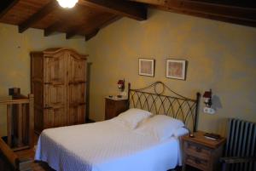
[[[1,0],[2,1],[2,0]],[[19,26],[22,33],[28,28],[44,30],[44,36],[64,32],[67,38],[95,36],[104,26],[123,16],[135,20],[146,20],[145,5],[110,0],[80,0],[73,9],[63,9],[55,0],[5,0],[0,9],[0,22]]]

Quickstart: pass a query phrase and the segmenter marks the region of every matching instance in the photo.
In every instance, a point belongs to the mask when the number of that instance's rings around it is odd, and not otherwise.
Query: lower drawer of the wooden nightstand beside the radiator
[[[200,168],[201,170],[207,170],[209,165],[209,161],[189,155],[186,157],[185,162],[186,164],[189,164],[190,166],[193,166],[195,168]]]

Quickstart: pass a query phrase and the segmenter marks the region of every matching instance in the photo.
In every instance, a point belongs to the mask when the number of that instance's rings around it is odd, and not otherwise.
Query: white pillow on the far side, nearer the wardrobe
[[[144,111],[142,109],[131,108],[125,112],[119,114],[116,119],[124,123],[131,129],[137,128],[138,123],[143,122],[144,119],[152,115],[149,111]]]

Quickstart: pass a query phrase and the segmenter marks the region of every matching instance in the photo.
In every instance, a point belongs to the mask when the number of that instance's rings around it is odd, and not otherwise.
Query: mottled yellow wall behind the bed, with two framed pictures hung
[[[215,115],[202,112],[199,129],[225,133],[226,118],[256,122],[256,29],[183,14],[149,10],[149,19],[118,20],[87,44],[90,54],[90,118],[104,119],[104,96],[117,94],[117,81],[132,88],[162,81],[195,98],[212,88]],[[156,60],[155,76],[138,76],[138,58]],[[187,80],[167,79],[166,59],[189,61]]]

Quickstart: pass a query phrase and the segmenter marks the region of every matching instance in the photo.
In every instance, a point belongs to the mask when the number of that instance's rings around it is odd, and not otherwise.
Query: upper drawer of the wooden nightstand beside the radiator
[[[191,156],[200,157],[203,159],[210,158],[212,153],[211,149],[191,142],[186,142],[185,151]]]

